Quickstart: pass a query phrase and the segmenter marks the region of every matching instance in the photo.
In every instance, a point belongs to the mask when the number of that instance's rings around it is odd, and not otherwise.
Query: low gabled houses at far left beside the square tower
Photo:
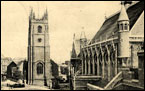
[[[26,79],[26,76],[24,76],[24,71],[26,75],[26,69],[27,61],[24,58],[8,58],[8,57],[2,57],[1,58],[1,76],[5,79],[7,78],[13,78],[13,72],[18,68],[18,70],[21,72],[21,75]]]

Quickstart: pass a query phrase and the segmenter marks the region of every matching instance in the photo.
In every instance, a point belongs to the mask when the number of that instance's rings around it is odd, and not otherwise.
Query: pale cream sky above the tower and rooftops
[[[56,63],[70,60],[74,33],[80,38],[84,31],[92,39],[105,16],[121,9],[119,1],[2,1],[1,53],[5,57],[27,58],[30,7],[36,17],[48,10],[50,57]]]

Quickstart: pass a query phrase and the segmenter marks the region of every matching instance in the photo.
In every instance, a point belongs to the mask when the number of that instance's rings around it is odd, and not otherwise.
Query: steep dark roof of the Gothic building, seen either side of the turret
[[[137,19],[144,11],[144,1],[137,2],[136,4],[130,6],[127,9],[127,14],[129,17],[130,22],[130,29],[134,26]],[[119,19],[120,12],[116,13],[115,15],[111,16],[110,18],[106,19],[103,25],[101,26],[100,30],[96,33],[94,38],[91,40],[91,43],[99,42],[106,40],[108,38],[116,37],[118,35],[118,27],[117,21]]]

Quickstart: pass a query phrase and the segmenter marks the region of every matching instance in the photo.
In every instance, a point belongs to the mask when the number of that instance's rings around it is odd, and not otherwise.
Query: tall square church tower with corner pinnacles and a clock
[[[40,19],[31,10],[28,35],[28,84],[47,85],[51,81],[49,27],[47,10]]]

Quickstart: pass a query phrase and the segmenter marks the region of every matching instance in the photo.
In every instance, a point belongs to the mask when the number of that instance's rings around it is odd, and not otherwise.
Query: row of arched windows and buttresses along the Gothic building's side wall
[[[101,76],[110,81],[117,74],[117,41],[106,40],[83,47],[82,75]]]

